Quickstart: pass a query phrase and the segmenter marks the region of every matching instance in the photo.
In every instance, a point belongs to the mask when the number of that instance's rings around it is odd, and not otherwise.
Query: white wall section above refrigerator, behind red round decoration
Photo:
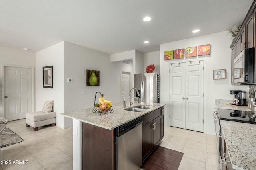
[[[160,51],[154,51],[150,53],[144,53],[143,54],[143,68],[144,68],[144,73],[146,73],[146,67],[150,64],[154,64],[155,70],[154,72],[159,73],[160,72],[160,66],[159,66],[159,59],[160,56]]]

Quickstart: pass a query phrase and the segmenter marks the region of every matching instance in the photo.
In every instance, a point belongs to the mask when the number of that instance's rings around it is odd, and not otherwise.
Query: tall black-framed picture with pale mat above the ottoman
[[[43,67],[43,87],[53,88],[53,66]]]

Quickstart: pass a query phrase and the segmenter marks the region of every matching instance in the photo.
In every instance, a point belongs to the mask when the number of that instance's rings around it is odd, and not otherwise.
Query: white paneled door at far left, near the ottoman
[[[32,69],[4,66],[4,117],[23,119],[32,111]]]

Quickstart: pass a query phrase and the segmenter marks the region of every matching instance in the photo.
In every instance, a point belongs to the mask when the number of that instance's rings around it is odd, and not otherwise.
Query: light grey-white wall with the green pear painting
[[[86,86],[86,69],[100,71],[100,86]],[[133,74],[132,62],[110,62],[108,54],[65,42],[65,112],[93,107],[96,92],[113,103],[121,102],[121,70]],[[67,78],[73,81],[67,82]],[[96,103],[99,97],[97,94]]]

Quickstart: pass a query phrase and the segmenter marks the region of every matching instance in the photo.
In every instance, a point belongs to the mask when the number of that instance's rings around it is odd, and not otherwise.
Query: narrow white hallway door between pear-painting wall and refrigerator
[[[129,72],[122,72],[121,76],[121,94],[122,94],[122,101],[125,97],[126,103],[129,100],[129,89],[130,89],[130,73]]]

